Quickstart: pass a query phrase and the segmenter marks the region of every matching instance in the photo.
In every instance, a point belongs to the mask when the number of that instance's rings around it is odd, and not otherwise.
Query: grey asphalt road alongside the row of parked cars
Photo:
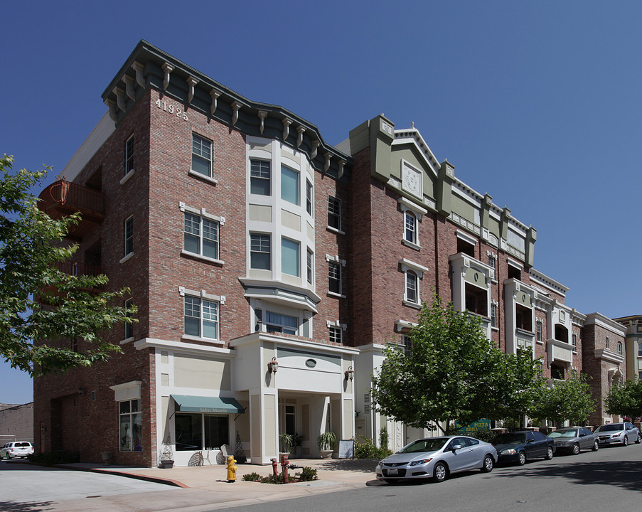
[[[456,474],[441,484],[384,484],[292,501],[234,508],[235,512],[577,512],[642,511],[642,445],[604,447],[525,466]]]

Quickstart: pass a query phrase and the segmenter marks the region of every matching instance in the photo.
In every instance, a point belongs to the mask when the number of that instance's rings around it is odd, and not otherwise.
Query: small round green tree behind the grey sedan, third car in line
[[[567,380],[556,381],[550,389],[545,389],[535,404],[533,415],[542,419],[580,425],[595,410],[591,388],[586,375],[575,370]]]

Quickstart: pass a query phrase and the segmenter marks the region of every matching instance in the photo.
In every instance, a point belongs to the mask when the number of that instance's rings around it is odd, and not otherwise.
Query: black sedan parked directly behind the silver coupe
[[[498,462],[520,466],[526,464],[527,460],[537,459],[537,457],[550,460],[555,453],[553,440],[536,430],[499,434],[493,439],[493,446],[497,449]]]

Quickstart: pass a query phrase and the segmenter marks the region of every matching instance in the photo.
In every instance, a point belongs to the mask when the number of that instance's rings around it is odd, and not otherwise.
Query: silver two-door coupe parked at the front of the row
[[[490,473],[496,462],[497,452],[490,443],[466,436],[429,437],[417,439],[383,459],[375,474],[386,482],[425,478],[441,482],[459,471],[481,469]]]

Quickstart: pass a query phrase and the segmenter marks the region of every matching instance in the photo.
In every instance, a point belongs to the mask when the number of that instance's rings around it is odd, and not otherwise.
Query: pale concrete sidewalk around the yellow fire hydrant
[[[207,463],[206,463],[207,464]],[[122,496],[101,496],[92,499],[92,511],[211,511],[234,506],[252,505],[278,501],[312,494],[345,491],[366,485],[378,485],[375,481],[376,461],[359,459],[294,459],[291,464],[309,466],[318,471],[319,480],[294,484],[260,484],[243,481],[244,474],[256,472],[262,476],[272,474],[272,466],[239,464],[237,481],[228,483],[225,464],[214,466],[175,467],[173,469],[134,468],[129,466],[100,466],[98,464],[65,464],[65,469],[117,474],[129,478],[144,479],[168,484],[168,491],[139,493]],[[280,471],[280,466],[279,466]],[[300,471],[290,470],[290,474]],[[176,487],[181,489],[176,489]],[[74,502],[78,503],[74,503]],[[63,503],[60,503],[63,506]],[[84,508],[83,508],[84,507]],[[84,511],[86,500],[68,500],[66,512]]]

